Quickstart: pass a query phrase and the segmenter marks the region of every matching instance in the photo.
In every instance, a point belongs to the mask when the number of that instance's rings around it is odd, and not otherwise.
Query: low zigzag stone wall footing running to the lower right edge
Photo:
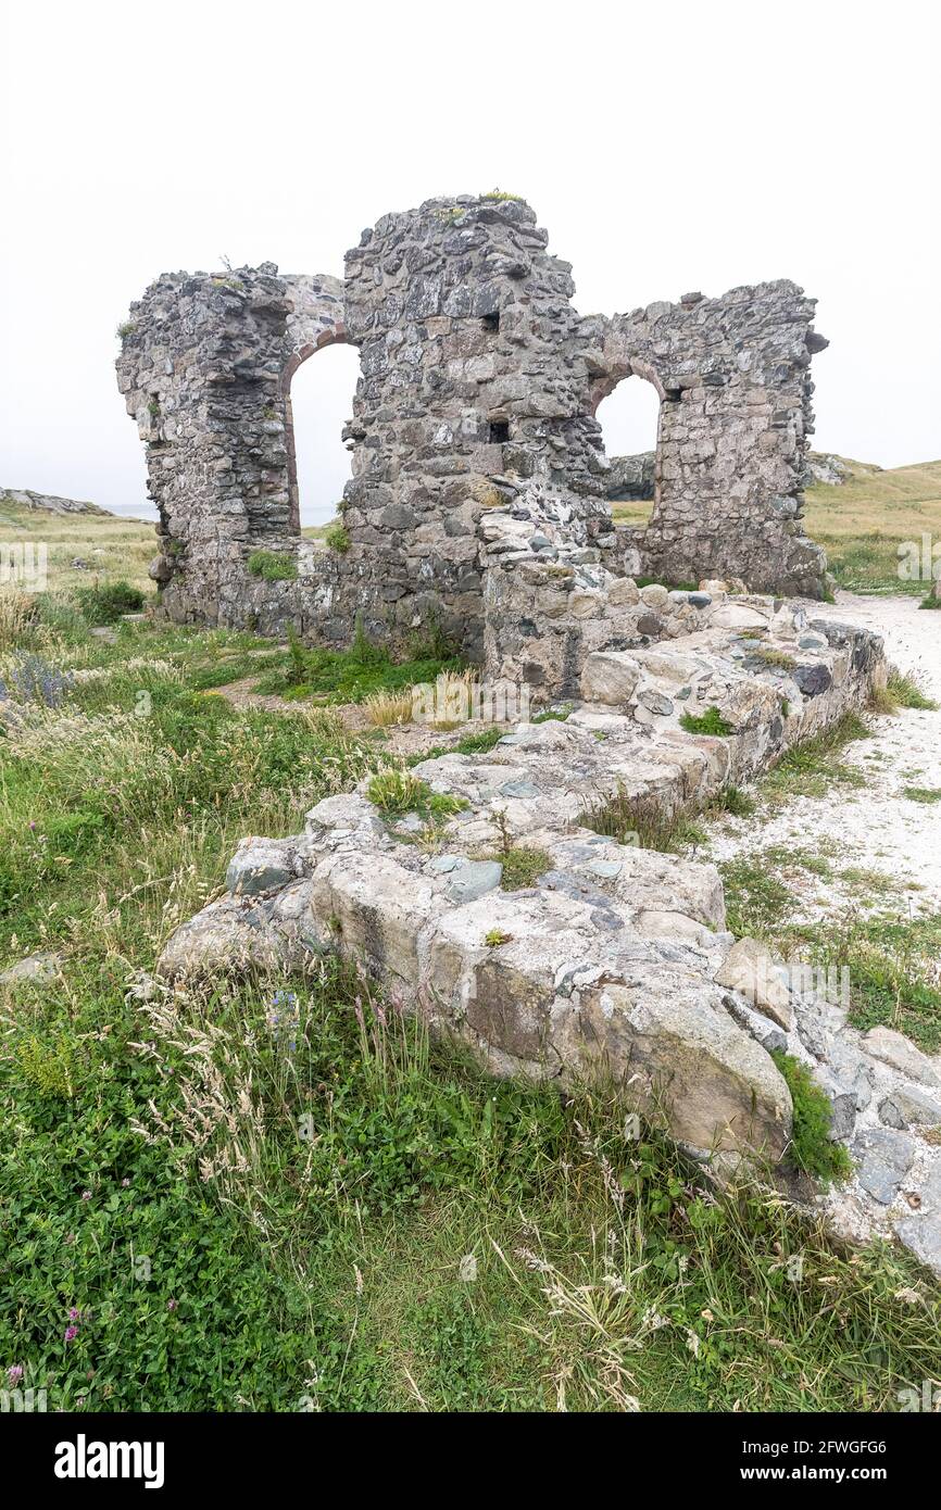
[[[791,663],[757,664],[769,648]],[[784,1049],[825,1087],[853,1160],[847,1184],[804,1199],[846,1237],[894,1232],[941,1273],[941,1148],[924,1136],[941,1125],[936,1066],[897,1033],[850,1028],[813,971],[736,941],[713,865],[589,826],[612,796],[695,808],[862,707],[884,676],[878,637],[760,598],[727,598],[693,634],[591,652],[592,701],[489,753],[414,769],[449,814],[384,817],[363,782],[317,803],[302,835],[245,840],[227,895],[177,930],[160,972],[343,954],[491,1072],[613,1081],[714,1169],[785,1155],[791,1104],[770,1057]],[[683,729],[678,705],[720,710],[731,732]],[[520,849],[539,862],[508,891]]]

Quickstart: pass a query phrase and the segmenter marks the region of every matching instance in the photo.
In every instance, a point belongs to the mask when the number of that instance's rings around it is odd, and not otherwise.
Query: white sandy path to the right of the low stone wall
[[[858,598],[840,593],[835,606],[814,604],[811,616],[875,630],[900,670],[915,676],[941,702],[941,613],[923,612],[915,598]],[[823,797],[761,803],[749,818],[727,818],[710,829],[710,859],[731,859],[770,846],[834,856],[834,870],[876,871],[908,898],[912,912],[941,911],[941,802],[915,802],[905,788],[941,788],[941,710],[903,708],[873,716],[873,737],[850,744],[843,760],[865,772],[865,787],[834,784]],[[868,888],[875,892],[876,888]],[[807,915],[875,901],[856,879],[807,877]]]

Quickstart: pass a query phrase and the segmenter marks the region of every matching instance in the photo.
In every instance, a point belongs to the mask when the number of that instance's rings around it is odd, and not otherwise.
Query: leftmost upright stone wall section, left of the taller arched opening
[[[287,387],[292,362],[346,340],[335,278],[273,263],[165,273],[121,328],[118,387],[147,447],[159,510],[151,575],[175,619],[246,619],[246,560],[296,550]]]

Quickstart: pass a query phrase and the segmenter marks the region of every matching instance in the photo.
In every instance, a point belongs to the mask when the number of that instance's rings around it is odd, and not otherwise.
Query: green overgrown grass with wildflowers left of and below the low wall
[[[145,583],[147,528],[56,525]],[[941,1377],[911,1259],[708,1190],[606,1093],[494,1083],[349,969],[148,986],[239,838],[384,731],[234,707],[269,643],[107,643],[69,583],[0,607],[0,966],[62,959],[0,1000],[0,1371],[88,1412],[893,1410]]]

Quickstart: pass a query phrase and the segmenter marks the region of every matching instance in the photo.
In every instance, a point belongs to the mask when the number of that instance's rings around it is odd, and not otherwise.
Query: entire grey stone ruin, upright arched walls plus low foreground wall
[[[131,311],[118,371],[166,613],[334,645],[358,618],[396,640],[435,616],[492,684],[556,702],[485,753],[414,767],[452,799],[444,817],[390,815],[367,779],[301,835],[246,838],[160,974],[344,956],[494,1074],[613,1080],[717,1172],[779,1170],[787,1051],[855,1167],[838,1191],[788,1193],[941,1271],[935,1065],[736,941],[713,865],[592,826],[612,799],[701,809],[885,681],[876,636],[788,601],[826,583],[801,528],[813,300],[772,282],[580,317],[545,240],[521,201],[432,199],[364,233],[343,284],[273,264],[165,275]],[[363,370],[340,553],[299,538],[290,417],[293,371],[331,341],[353,341]],[[628,376],[660,396],[646,528],[615,527],[609,498],[651,465],[612,467],[594,418]],[[260,581],[258,550],[292,574]],[[539,852],[533,885],[506,889],[508,846]]]

